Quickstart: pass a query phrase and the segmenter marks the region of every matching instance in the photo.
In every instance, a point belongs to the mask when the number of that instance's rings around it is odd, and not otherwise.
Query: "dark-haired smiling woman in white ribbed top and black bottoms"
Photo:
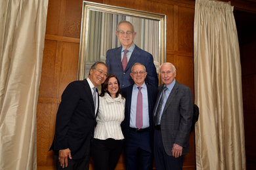
[[[114,170],[123,150],[125,98],[116,75],[108,75],[101,90],[91,152],[95,170]]]

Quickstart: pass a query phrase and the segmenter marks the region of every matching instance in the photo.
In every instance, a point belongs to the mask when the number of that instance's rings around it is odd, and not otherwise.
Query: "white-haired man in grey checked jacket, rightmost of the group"
[[[182,169],[184,154],[189,152],[189,135],[193,117],[190,88],[175,80],[176,69],[163,63],[154,108],[154,158],[156,169]]]

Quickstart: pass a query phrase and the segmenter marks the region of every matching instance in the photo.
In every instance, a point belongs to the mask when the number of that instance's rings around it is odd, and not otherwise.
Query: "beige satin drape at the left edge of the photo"
[[[0,169],[37,169],[47,7],[48,0],[0,1]]]

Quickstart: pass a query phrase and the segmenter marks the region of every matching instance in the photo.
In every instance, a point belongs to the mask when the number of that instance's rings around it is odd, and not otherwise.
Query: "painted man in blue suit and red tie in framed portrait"
[[[106,65],[108,74],[116,75],[120,82],[120,87],[125,88],[133,84],[133,79],[129,75],[131,67],[135,63],[141,63],[148,71],[148,76],[145,79],[146,84],[158,88],[158,75],[153,56],[135,45],[133,40],[136,34],[134,26],[130,22],[125,20],[119,22],[116,35],[122,46],[107,51]]]

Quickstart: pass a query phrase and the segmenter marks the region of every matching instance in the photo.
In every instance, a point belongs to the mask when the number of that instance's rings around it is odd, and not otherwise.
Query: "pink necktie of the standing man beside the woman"
[[[137,110],[136,110],[136,126],[138,129],[140,129],[143,126],[143,119],[142,119],[142,93],[141,93],[141,88],[139,88],[139,93],[137,96]]]

